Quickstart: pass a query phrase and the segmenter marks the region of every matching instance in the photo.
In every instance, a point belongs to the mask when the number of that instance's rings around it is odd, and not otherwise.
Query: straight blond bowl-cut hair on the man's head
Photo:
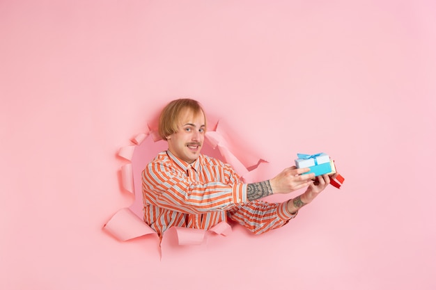
[[[189,111],[198,115],[203,113],[205,115],[201,104],[194,99],[175,99],[167,104],[159,117],[159,135],[162,139],[166,140],[166,137],[171,134],[177,133],[178,122],[180,122],[180,112],[183,108],[187,108]]]

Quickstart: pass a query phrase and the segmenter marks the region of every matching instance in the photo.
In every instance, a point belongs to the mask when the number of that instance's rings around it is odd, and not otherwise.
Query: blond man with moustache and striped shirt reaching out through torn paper
[[[162,238],[169,227],[210,229],[228,218],[255,234],[286,225],[330,182],[328,175],[302,175],[309,168],[285,168],[264,182],[243,184],[230,165],[201,154],[205,113],[193,99],[170,102],[159,118],[159,134],[168,142],[142,172],[144,220]],[[259,200],[307,187],[283,203]]]

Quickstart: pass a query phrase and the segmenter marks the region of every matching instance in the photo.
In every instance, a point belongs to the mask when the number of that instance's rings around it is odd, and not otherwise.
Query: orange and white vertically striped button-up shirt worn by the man
[[[286,225],[286,202],[247,200],[247,184],[230,165],[201,154],[188,164],[169,151],[142,172],[144,221],[162,238],[169,227],[210,229],[230,218],[255,234]]]

